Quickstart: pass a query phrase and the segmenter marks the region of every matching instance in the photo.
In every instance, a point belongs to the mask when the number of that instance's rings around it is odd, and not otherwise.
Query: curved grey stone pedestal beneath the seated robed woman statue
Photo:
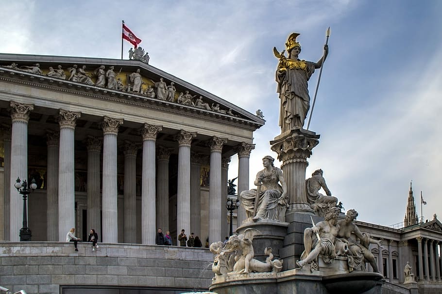
[[[265,262],[267,255],[264,254],[266,247],[272,247],[274,259],[280,258],[280,250],[284,246],[284,236],[287,235],[286,222],[274,220],[259,220],[256,222],[246,222],[240,226],[236,232],[243,234],[246,229],[252,228],[261,232],[253,239],[255,259]],[[285,262],[285,261],[284,261]]]

